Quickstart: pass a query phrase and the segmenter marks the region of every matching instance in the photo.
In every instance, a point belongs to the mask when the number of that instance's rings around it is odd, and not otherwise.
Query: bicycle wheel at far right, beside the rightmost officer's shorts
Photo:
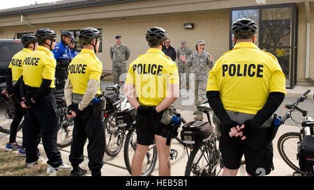
[[[297,159],[299,141],[299,132],[287,132],[278,139],[277,148],[279,155],[281,155],[283,161],[285,161],[290,168],[306,175],[306,173],[300,171],[299,161]]]

